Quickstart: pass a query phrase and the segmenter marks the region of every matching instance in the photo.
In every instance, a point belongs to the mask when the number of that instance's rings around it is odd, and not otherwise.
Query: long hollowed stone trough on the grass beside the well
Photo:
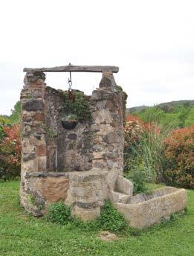
[[[115,206],[132,227],[144,228],[184,211],[187,208],[187,191],[172,187],[160,188],[132,196],[129,203],[117,202]]]

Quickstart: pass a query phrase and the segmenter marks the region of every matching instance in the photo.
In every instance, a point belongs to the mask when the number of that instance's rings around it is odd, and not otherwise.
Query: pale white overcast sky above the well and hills
[[[0,4],[0,113],[19,100],[24,67],[117,65],[128,106],[194,99],[193,0],[4,0]],[[73,73],[91,94],[100,73]],[[68,89],[68,73],[46,83]]]

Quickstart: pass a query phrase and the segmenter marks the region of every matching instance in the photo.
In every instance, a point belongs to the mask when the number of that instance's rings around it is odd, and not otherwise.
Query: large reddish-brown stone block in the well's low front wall
[[[48,202],[65,202],[68,196],[69,180],[64,178],[48,177],[42,179],[42,196]]]

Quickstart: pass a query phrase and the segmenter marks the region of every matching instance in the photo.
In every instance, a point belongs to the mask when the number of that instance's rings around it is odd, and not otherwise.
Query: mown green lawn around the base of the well
[[[194,255],[193,197],[194,191],[188,191],[184,217],[143,231],[140,236],[105,243],[97,238],[97,231],[31,217],[19,205],[19,182],[0,183],[0,255]]]

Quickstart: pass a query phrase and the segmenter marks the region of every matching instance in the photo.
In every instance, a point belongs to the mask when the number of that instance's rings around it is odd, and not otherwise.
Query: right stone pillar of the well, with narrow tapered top
[[[91,95],[94,106],[91,130],[94,140],[93,167],[123,173],[123,98],[111,72],[103,72],[100,88]]]

